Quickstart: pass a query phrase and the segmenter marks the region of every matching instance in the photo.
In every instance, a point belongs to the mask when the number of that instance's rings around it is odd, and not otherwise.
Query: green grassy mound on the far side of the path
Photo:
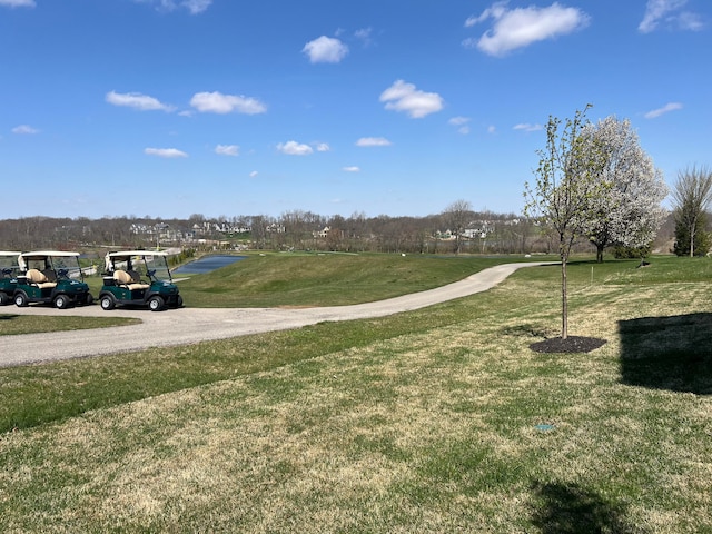
[[[187,306],[342,306],[422,291],[521,256],[251,254],[179,284]]]

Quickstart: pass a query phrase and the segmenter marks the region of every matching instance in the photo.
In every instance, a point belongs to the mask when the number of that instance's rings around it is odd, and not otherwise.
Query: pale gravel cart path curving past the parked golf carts
[[[99,306],[58,310],[49,306],[0,308],[2,314],[73,315],[86,317],[138,317],[141,324],[110,329],[56,332],[1,336],[0,367],[53,359],[68,359],[148,347],[185,345],[207,339],[284,330],[325,320],[352,320],[384,317],[418,309],[454,298],[490,289],[522,267],[551,265],[550,263],[517,263],[492,267],[464,280],[426,291],[404,295],[375,303],[319,308],[181,308],[154,313],[147,309],[115,309],[105,312]]]

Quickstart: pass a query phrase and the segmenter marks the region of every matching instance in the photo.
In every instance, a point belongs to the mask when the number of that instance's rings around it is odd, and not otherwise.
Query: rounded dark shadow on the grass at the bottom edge
[[[642,533],[627,520],[625,506],[605,501],[577,484],[538,482],[532,485],[532,524],[544,534]]]

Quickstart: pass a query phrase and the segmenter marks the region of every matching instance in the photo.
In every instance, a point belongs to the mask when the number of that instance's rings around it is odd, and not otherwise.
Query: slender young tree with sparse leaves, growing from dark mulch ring
[[[562,328],[561,338],[568,337],[568,301],[566,266],[571,248],[581,237],[591,234],[600,199],[606,190],[599,177],[604,168],[603,151],[596,140],[584,136],[589,122],[585,112],[576,111],[573,119],[550,117],[546,126],[546,148],[538,150],[536,182],[525,184],[524,214],[551,228],[558,240],[561,257]]]

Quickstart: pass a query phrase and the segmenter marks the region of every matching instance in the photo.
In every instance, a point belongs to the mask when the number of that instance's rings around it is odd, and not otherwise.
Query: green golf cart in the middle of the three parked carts
[[[44,250],[18,256],[21,274],[13,293],[14,304],[52,304],[58,309],[93,303],[83,281],[79,253]]]

